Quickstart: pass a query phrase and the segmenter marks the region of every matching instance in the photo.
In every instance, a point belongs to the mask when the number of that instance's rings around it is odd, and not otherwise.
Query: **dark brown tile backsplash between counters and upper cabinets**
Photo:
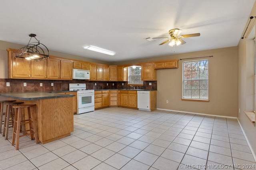
[[[10,86],[6,86],[10,82]],[[26,86],[24,86],[26,82]],[[42,86],[40,86],[42,83]],[[51,86],[53,83],[53,86]],[[88,80],[35,80],[0,78],[0,93],[6,92],[51,92],[67,91],[70,83],[85,83],[87,89],[122,89],[130,88],[128,82],[88,81]],[[96,86],[95,86],[96,83]],[[152,85],[149,85],[151,83]],[[124,84],[124,85],[122,85]],[[137,86],[135,86],[137,89]],[[157,90],[157,81],[144,81],[139,89]]]

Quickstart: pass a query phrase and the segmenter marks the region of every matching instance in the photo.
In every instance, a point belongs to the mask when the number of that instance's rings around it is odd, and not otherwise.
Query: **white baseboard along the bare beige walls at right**
[[[240,123],[240,121],[238,120],[237,117],[222,116],[222,115],[211,115],[211,114],[206,114],[206,113],[195,113],[195,112],[180,111],[180,110],[170,110],[170,109],[160,109],[160,108],[157,108],[157,109],[158,109],[158,110],[166,110],[166,111],[180,112],[180,113],[190,113],[190,114],[195,114],[195,115],[207,115],[207,116],[214,116],[214,117],[226,117],[226,118],[237,119],[238,124],[239,124],[240,128],[242,129],[242,133],[244,134],[245,140],[246,140],[246,142],[248,143],[248,146],[249,146],[249,148],[250,148],[250,150],[251,150],[251,152],[252,152],[252,156],[253,156],[253,158],[254,158],[254,160],[255,160],[255,162],[256,162],[256,155],[255,155],[255,153],[253,152],[252,147],[251,147],[251,145],[250,145],[250,142],[248,141],[248,138],[246,137],[246,134],[244,133],[244,129],[243,129],[243,127],[242,127],[242,125],[241,125],[241,123]]]

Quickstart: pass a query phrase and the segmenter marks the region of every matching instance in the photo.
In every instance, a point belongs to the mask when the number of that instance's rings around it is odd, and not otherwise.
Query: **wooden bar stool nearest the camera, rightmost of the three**
[[[36,106],[36,104],[22,104],[22,105],[17,105],[13,106],[15,109],[15,115],[14,115],[14,126],[13,126],[13,133],[12,133],[12,146],[15,143],[15,138],[16,138],[16,150],[19,149],[19,142],[20,142],[20,137],[30,135],[31,140],[36,140],[36,143],[38,143],[38,132],[36,128],[36,121],[35,121],[35,115],[34,115],[34,109],[33,107]],[[22,115],[22,108],[28,108],[28,119],[26,120],[21,120],[21,115]],[[29,129],[25,131],[20,132],[20,125],[23,124],[28,124]],[[23,135],[20,135],[20,133],[28,132]]]

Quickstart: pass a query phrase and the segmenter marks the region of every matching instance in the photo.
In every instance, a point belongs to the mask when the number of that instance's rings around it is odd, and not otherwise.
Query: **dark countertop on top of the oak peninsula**
[[[0,93],[0,96],[18,99],[18,100],[40,100],[40,99],[50,99],[50,98],[67,98],[67,97],[74,97],[75,95],[58,94],[58,92],[12,92],[12,93]]]

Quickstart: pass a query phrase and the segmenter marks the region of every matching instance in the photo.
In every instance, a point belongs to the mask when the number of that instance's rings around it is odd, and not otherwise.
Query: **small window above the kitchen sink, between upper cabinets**
[[[128,82],[129,84],[143,84],[141,80],[141,66],[128,67]]]

